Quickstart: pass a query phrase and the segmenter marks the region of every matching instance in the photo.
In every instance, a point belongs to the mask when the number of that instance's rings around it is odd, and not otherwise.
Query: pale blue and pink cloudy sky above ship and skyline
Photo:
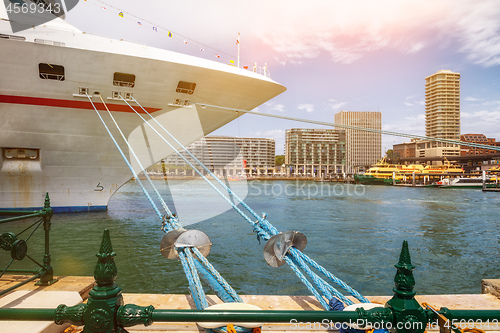
[[[425,77],[448,69],[461,74],[461,132],[500,141],[498,0],[80,0],[66,20],[225,63],[240,33],[241,66],[267,64],[287,87],[259,112],[333,122],[341,110],[380,111],[382,129],[417,135]],[[282,154],[286,129],[321,128],[262,120],[244,115],[213,134],[273,138]],[[405,141],[384,135],[382,149]]]

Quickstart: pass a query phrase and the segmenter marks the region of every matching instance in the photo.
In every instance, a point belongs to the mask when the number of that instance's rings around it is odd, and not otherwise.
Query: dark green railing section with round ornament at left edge
[[[52,215],[54,215],[52,208],[50,208],[50,198],[49,194],[45,195],[45,203],[43,209],[39,211],[0,211],[0,215],[4,216],[13,216],[9,218],[5,218],[0,220],[0,224],[15,222],[30,218],[39,218],[30,226],[25,228],[24,230],[16,233],[6,232],[0,235],[0,248],[5,251],[10,251],[11,260],[7,264],[7,266],[0,273],[0,277],[2,277],[5,273],[17,273],[17,274],[31,274],[33,275],[29,279],[24,280],[10,288],[0,291],[0,296],[22,286],[33,280],[40,279],[37,282],[37,285],[47,286],[50,285],[57,280],[54,279],[54,270],[50,265],[50,252],[49,252],[49,234],[51,222],[50,219]],[[28,254],[28,241],[33,236],[35,231],[39,229],[40,226],[43,225],[43,230],[45,231],[45,253],[43,256],[43,263],[40,264],[33,257]],[[20,239],[19,236],[25,232],[30,231],[30,234],[25,239]],[[34,262],[38,268],[37,269],[9,269],[9,267],[17,261],[21,261],[24,258],[28,258],[32,262]]]

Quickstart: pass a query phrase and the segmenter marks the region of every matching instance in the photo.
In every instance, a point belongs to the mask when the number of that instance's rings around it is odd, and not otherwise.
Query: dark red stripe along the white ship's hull
[[[25,105],[39,105],[39,106],[52,106],[58,108],[70,108],[70,109],[84,109],[84,110],[93,110],[94,107],[92,103],[85,101],[74,101],[68,99],[54,99],[54,98],[42,98],[42,97],[29,97],[29,96],[12,96],[12,95],[0,95],[0,103],[9,103],[9,104],[25,104]],[[97,110],[105,111],[103,103],[94,103]],[[109,108],[109,111],[118,111],[118,112],[134,112],[132,109],[126,104],[111,104],[106,103]],[[140,107],[134,106],[134,109],[139,113],[145,113]],[[161,109],[159,108],[147,108],[148,112],[155,112]]]

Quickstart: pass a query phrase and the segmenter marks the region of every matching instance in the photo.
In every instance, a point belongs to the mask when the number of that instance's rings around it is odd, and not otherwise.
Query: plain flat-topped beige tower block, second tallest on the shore
[[[335,124],[382,129],[380,112],[340,111]],[[337,129],[342,129],[338,127]],[[382,158],[382,134],[355,129],[345,130],[347,172],[358,172]]]

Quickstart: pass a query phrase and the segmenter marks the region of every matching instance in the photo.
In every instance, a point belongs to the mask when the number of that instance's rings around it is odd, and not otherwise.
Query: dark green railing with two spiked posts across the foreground
[[[153,306],[123,305],[121,288],[114,283],[117,275],[115,256],[109,231],[105,230],[94,270],[96,286],[90,291],[86,304],[71,307],[59,305],[56,309],[0,309],[0,320],[51,320],[56,324],[85,325],[84,332],[89,333],[123,332],[125,327],[147,326],[153,322],[328,322],[357,324],[367,329],[386,328],[400,333],[423,333],[428,324],[437,323],[441,332],[461,332],[454,326],[460,320],[483,323],[498,323],[500,320],[500,310],[441,308],[438,311],[430,306],[422,307],[414,297],[415,267],[411,263],[406,241],[395,265],[397,273],[393,298],[384,307],[358,308],[356,311],[164,310]]]

